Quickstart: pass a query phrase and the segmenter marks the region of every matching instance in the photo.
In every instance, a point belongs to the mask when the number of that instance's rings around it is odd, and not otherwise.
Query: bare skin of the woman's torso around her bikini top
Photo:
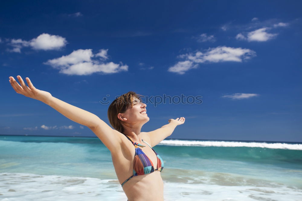
[[[135,147],[120,132],[116,132],[121,138],[120,148],[117,148],[117,152],[111,153],[112,162],[114,165],[117,178],[122,184],[130,176],[133,175],[133,160],[135,155]],[[140,133],[141,139],[150,144],[150,139],[145,132]],[[146,145],[144,142],[137,142],[142,145]],[[157,157],[155,152],[148,145],[141,148],[142,151],[152,161],[154,168],[157,167]],[[150,174],[138,175],[132,177],[123,185],[123,190],[129,201],[139,200],[152,200],[162,201],[163,199],[163,181],[160,175],[160,171],[154,171]]]

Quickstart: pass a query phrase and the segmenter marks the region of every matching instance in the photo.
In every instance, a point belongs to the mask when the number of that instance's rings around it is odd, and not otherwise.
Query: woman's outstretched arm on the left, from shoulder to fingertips
[[[66,116],[68,119],[87,126],[95,133],[96,136],[98,136],[98,138],[110,151],[115,151],[116,148],[119,147],[120,138],[119,135],[117,135],[116,130],[112,129],[107,123],[105,123],[95,114],[61,101],[58,98],[53,97],[47,91],[36,89],[29,78],[26,78],[29,87],[25,85],[21,76],[17,76],[21,86],[13,77],[9,78],[11,86],[18,94],[23,94],[26,97],[42,101]]]

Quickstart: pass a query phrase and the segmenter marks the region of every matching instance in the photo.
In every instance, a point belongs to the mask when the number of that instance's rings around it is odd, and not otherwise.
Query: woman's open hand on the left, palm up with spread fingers
[[[19,83],[14,79],[14,77],[9,77],[9,82],[11,83],[11,86],[14,88],[14,90],[17,92],[17,94],[22,94],[26,97],[30,97],[42,102],[47,101],[52,95],[47,91],[41,91],[39,89],[36,89],[34,85],[31,83],[31,80],[29,78],[26,78],[28,87],[25,85],[23,79],[20,75],[17,76]]]

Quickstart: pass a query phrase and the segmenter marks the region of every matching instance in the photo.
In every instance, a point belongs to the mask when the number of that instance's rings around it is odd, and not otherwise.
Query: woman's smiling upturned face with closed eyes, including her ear
[[[124,122],[126,123],[146,123],[149,121],[149,117],[146,113],[146,107],[146,104],[140,102],[139,99],[134,97],[133,106],[131,107],[131,105],[129,105],[126,112],[119,113],[118,115],[119,117],[124,117]]]

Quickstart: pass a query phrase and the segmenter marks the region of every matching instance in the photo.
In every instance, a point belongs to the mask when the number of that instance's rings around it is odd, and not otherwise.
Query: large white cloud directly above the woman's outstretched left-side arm
[[[104,56],[107,57],[107,50],[105,51],[106,54],[104,54],[104,51],[102,53],[103,59]],[[56,69],[60,69],[60,73],[67,75],[91,75],[95,72],[102,72],[106,74],[128,70],[128,66],[123,65],[121,62],[120,64],[115,64],[113,62],[103,63],[101,60],[92,59],[94,56],[97,55],[92,53],[92,49],[78,49],[74,50],[67,56],[62,56],[57,59],[50,59],[44,64],[51,65]],[[100,55],[98,55],[98,57],[100,57]]]

